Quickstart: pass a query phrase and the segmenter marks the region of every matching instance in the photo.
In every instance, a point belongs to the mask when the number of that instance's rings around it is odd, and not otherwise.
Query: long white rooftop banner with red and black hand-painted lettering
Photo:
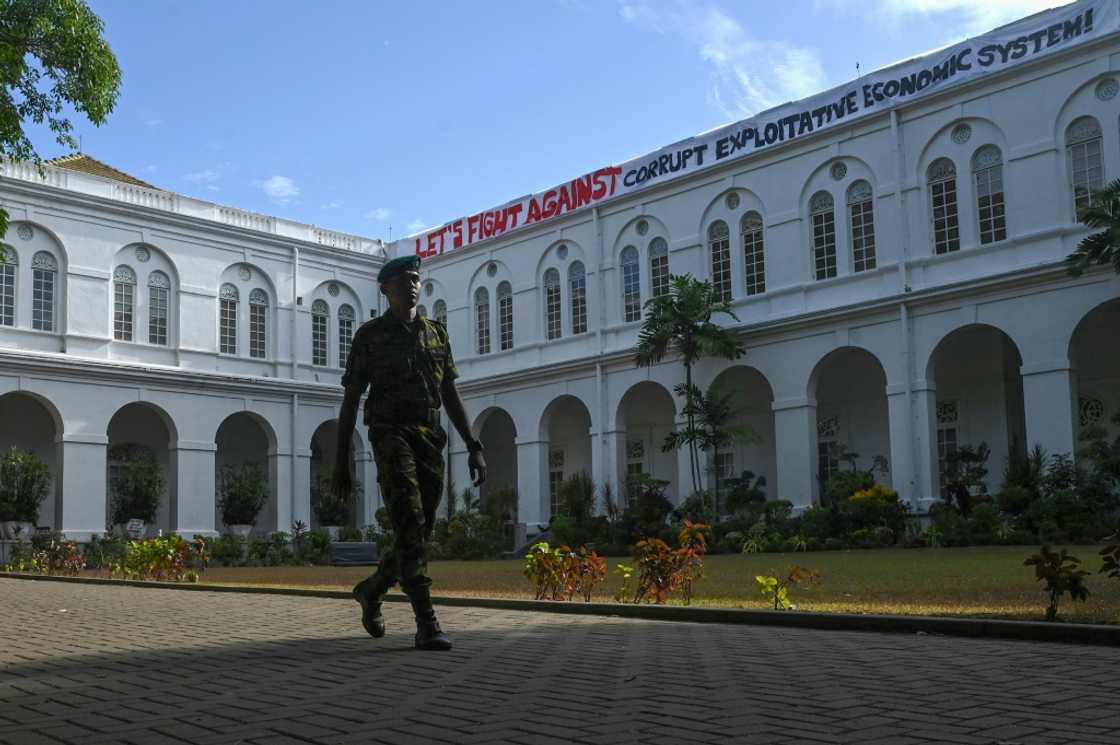
[[[983,2],[983,0],[977,0]],[[447,253],[487,239],[664,184],[717,164],[915,101],[1018,64],[1113,34],[1120,0],[1082,0],[1002,26],[924,57],[869,73],[801,101],[689,138],[618,166],[401,239],[396,255]]]

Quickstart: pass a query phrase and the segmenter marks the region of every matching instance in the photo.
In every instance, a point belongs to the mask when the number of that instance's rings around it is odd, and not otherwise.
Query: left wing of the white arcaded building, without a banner
[[[87,156],[8,164],[0,261],[0,448],[53,469],[40,525],[103,533],[116,445],[149,448],[167,494],[152,528],[221,530],[221,466],[258,463],[258,531],[314,524],[333,464],[349,339],[379,311],[380,241],[164,192]],[[372,521],[376,473],[355,437]]]

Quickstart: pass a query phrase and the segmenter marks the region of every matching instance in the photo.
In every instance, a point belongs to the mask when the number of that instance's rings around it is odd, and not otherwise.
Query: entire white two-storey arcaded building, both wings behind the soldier
[[[660,447],[682,367],[634,363],[642,304],[685,272],[730,298],[747,348],[698,370],[755,434],[706,464],[708,485],[750,469],[804,507],[837,443],[864,467],[881,456],[923,510],[954,447],[991,447],[993,488],[1014,448],[1075,451],[1120,409],[1120,278],[1063,263],[1088,234],[1076,207],[1120,177],[1118,92],[1109,32],[426,258],[423,310],[448,324],[491,466],[483,499],[515,487],[532,532],[579,471],[616,495],[636,472],[687,495],[687,456]],[[244,459],[269,467],[259,530],[310,521],[348,334],[377,311],[380,243],[83,158],[4,176],[0,447],[53,464],[40,522],[103,530],[116,443],[164,459],[165,529],[220,528],[215,471]],[[355,446],[370,522],[375,473]],[[450,447],[461,488],[466,451]]]

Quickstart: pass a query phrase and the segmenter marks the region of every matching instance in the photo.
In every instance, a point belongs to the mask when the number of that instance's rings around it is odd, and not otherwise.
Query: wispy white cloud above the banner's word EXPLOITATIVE
[[[681,36],[710,67],[708,97],[727,117],[740,119],[827,87],[815,49],[752,38],[713,6],[681,0],[619,0],[627,22],[661,35]]]

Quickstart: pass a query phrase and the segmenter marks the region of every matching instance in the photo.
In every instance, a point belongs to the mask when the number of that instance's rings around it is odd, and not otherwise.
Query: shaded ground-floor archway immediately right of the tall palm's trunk
[[[724,512],[724,482],[738,478],[744,471],[765,476],[766,495],[778,499],[777,455],[774,448],[774,393],[760,372],[745,365],[728,367],[712,381],[707,393],[730,397],[731,416],[727,427],[738,435],[719,453],[709,453],[709,483],[717,487],[717,510]]]

